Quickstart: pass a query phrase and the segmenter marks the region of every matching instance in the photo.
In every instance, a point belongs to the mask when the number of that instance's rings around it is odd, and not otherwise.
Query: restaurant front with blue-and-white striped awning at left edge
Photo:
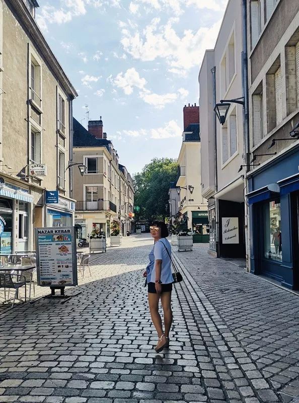
[[[29,188],[0,177],[0,253],[32,248],[30,227],[33,197]]]

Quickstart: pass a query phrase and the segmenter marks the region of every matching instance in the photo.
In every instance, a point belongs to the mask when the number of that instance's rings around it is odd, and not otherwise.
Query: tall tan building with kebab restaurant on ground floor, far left
[[[35,21],[35,0],[0,1],[0,252],[34,250],[34,228],[73,225],[72,100]],[[58,192],[47,203],[46,190]]]

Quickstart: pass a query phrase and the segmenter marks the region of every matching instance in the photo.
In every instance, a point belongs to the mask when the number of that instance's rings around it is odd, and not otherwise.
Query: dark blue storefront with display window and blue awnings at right
[[[299,289],[299,147],[249,174],[251,272]]]

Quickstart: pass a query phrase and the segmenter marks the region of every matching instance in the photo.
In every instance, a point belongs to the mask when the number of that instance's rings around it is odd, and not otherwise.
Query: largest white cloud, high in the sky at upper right
[[[185,30],[178,35],[173,27],[177,18],[160,25],[160,19],[153,19],[142,31],[122,30],[121,44],[135,59],[153,61],[166,60],[169,71],[181,76],[195,65],[199,65],[205,49],[214,46],[221,21],[211,27],[201,27],[197,32]]]

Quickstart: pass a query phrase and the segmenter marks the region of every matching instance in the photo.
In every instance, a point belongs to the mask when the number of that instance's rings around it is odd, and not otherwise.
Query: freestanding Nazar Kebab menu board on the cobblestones
[[[74,227],[36,228],[37,284],[42,287],[77,286]]]

